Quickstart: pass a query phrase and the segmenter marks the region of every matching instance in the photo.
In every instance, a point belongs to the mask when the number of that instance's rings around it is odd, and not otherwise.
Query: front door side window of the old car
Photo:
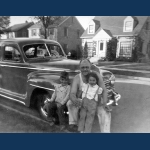
[[[20,61],[21,55],[18,49],[12,46],[5,46],[4,60],[8,61]]]

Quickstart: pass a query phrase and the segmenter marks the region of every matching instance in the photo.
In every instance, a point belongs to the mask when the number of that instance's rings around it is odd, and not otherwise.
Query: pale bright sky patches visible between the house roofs
[[[83,28],[86,29],[88,23],[90,22],[91,19],[94,18],[94,16],[76,16],[79,20],[79,22],[82,24]],[[19,24],[19,23],[25,23],[25,21],[33,21],[32,16],[11,16],[10,17],[10,26],[14,24]]]

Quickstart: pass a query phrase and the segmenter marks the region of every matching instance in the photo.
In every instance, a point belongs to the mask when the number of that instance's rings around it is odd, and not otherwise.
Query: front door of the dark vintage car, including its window
[[[6,43],[1,61],[1,93],[18,99],[26,97],[28,64],[17,44]]]

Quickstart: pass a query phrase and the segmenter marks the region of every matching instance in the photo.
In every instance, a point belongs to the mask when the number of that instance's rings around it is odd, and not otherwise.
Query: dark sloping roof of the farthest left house
[[[4,31],[5,32],[17,32],[23,28],[28,28],[30,27],[31,25],[33,25],[34,23],[33,22],[26,22],[26,23],[21,23],[21,24],[15,24],[11,27],[8,27],[7,29],[5,29]]]

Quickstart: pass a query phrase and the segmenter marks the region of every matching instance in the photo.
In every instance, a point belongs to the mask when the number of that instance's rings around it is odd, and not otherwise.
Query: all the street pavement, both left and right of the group
[[[115,107],[112,112],[111,132],[150,132],[150,83],[117,79],[116,90],[122,95],[122,99],[119,106]],[[9,110],[9,107],[13,109]],[[48,123],[41,121],[35,110],[0,98],[0,132],[51,133],[60,131],[57,127],[50,127]],[[93,132],[99,132],[97,118],[94,122]]]

